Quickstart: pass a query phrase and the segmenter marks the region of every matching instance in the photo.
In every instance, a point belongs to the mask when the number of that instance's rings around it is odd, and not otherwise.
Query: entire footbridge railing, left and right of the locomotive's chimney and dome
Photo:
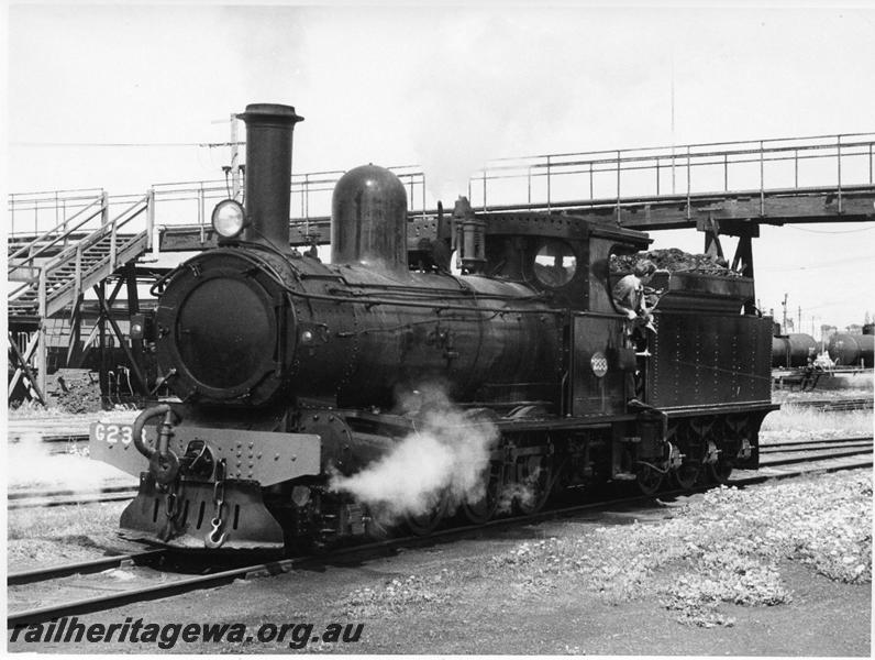
[[[472,205],[481,210],[531,206],[551,210],[563,204],[592,206],[640,205],[642,199],[686,199],[693,195],[733,191],[760,197],[764,215],[766,194],[796,189],[834,190],[838,210],[852,186],[875,185],[875,133],[844,133],[808,138],[782,138],[741,142],[706,142],[675,146],[602,150],[498,158],[468,179]],[[413,165],[390,167],[408,190],[408,211],[428,215],[436,207],[425,174]],[[304,223],[331,212],[331,194],[343,176],[332,169],[292,175],[291,215]],[[160,226],[210,227],[211,202],[232,196],[228,179],[156,184],[152,187],[151,216]],[[82,205],[90,190],[31,193],[9,196],[10,235],[20,233],[15,222],[33,213],[33,234],[60,223],[70,206]],[[113,196],[110,205],[133,196]],[[42,213],[42,216],[40,216]],[[37,217],[44,217],[44,223]]]

